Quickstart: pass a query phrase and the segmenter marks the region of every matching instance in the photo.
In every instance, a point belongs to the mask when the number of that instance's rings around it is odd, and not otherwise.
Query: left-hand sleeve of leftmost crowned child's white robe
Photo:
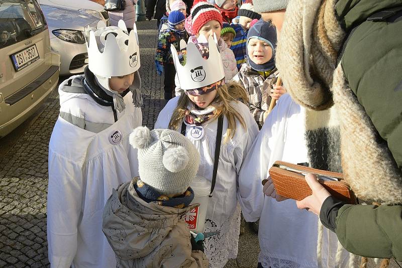
[[[51,267],[69,268],[77,251],[82,170],[49,149],[47,241]]]

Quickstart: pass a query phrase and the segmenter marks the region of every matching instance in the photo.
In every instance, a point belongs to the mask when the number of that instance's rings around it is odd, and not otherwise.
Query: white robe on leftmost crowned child
[[[59,90],[62,111],[112,120],[111,107],[86,94]],[[49,143],[47,238],[51,267],[116,267],[115,253],[102,232],[102,214],[112,189],[138,176],[137,150],[129,135],[142,123],[132,94],[118,121],[94,133],[59,117]],[[108,118],[108,119],[107,119]],[[119,135],[112,134],[119,130]],[[116,144],[113,144],[116,141]]]

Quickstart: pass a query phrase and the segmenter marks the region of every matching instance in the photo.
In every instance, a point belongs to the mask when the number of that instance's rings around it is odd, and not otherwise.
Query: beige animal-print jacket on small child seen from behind
[[[204,252],[192,250],[183,218],[197,204],[179,208],[161,205],[165,201],[148,203],[135,189],[135,185],[142,187],[141,183],[136,177],[113,189],[105,205],[102,230],[115,251],[116,266],[207,268]]]

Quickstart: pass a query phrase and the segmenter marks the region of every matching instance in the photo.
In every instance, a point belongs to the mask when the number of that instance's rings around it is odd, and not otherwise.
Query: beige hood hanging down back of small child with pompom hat
[[[147,203],[137,195],[134,181],[113,189],[103,215],[103,232],[123,260],[149,255],[180,218],[198,205],[180,209]]]

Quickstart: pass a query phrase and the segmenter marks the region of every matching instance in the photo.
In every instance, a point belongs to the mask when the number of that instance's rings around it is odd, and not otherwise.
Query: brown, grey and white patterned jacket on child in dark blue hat
[[[268,77],[264,79],[264,76],[260,72],[253,70],[246,61],[241,65],[239,73],[232,79],[232,81],[242,84],[246,89],[249,99],[245,102],[248,102],[246,104],[249,106],[250,112],[253,114],[260,129],[264,123],[264,112],[268,110],[271,102],[269,91],[272,88],[272,84],[276,83],[277,75],[278,71],[274,68],[269,72]]]

